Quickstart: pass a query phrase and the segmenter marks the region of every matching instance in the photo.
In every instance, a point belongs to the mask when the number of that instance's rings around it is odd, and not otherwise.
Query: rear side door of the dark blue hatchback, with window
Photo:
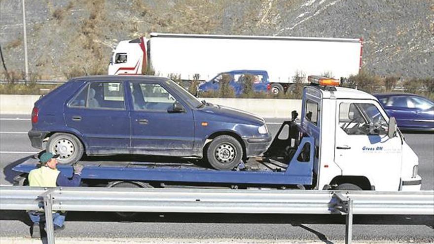
[[[78,131],[88,154],[128,153],[130,118],[123,82],[92,81],[65,107],[65,121]]]

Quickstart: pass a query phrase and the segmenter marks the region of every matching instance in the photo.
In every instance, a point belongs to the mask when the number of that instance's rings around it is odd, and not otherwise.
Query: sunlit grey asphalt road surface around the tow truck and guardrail
[[[275,134],[283,119],[267,119]],[[11,184],[11,168],[37,150],[27,138],[30,118],[0,116],[0,183]],[[434,190],[434,134],[405,134],[419,156],[422,189]],[[22,211],[0,211],[0,237],[29,237],[29,220]],[[113,213],[68,213],[65,238],[236,239],[342,242],[345,220],[329,215],[264,214],[140,214],[134,222],[119,222]],[[434,242],[434,216],[355,216],[353,240],[386,242]]]

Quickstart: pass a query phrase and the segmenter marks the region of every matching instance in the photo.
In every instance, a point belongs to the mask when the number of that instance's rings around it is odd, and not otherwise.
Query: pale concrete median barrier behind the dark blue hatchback
[[[0,95],[0,114],[28,114],[39,95]],[[257,114],[264,118],[289,118],[292,110],[300,113],[301,100],[293,99],[241,99],[199,98],[212,104],[233,107]]]

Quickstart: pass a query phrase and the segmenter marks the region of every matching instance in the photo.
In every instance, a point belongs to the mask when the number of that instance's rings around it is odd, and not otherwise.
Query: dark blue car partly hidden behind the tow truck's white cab
[[[375,94],[398,127],[407,131],[434,131],[434,102],[413,94]]]

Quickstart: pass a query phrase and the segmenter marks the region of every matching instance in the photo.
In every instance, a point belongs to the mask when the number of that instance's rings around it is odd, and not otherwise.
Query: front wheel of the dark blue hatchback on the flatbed
[[[232,170],[243,158],[240,142],[231,136],[218,136],[211,141],[207,150],[207,159],[216,170]]]

